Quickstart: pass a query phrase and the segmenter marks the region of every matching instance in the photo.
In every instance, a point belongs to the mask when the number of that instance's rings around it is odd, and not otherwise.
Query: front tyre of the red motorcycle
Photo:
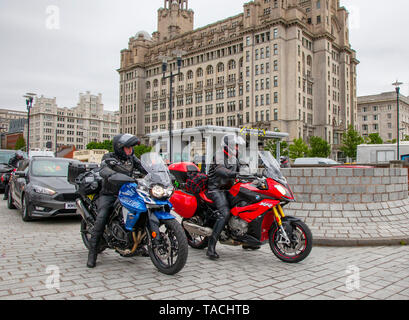
[[[270,230],[269,243],[271,251],[273,251],[278,259],[286,263],[298,263],[307,258],[312,250],[312,233],[308,226],[302,221],[291,222],[291,225],[294,232],[298,233],[297,247],[301,245],[303,246],[303,250],[297,253],[296,248],[291,248],[287,244],[280,244],[280,229],[277,226]],[[292,244],[292,246],[293,245],[294,244]]]

